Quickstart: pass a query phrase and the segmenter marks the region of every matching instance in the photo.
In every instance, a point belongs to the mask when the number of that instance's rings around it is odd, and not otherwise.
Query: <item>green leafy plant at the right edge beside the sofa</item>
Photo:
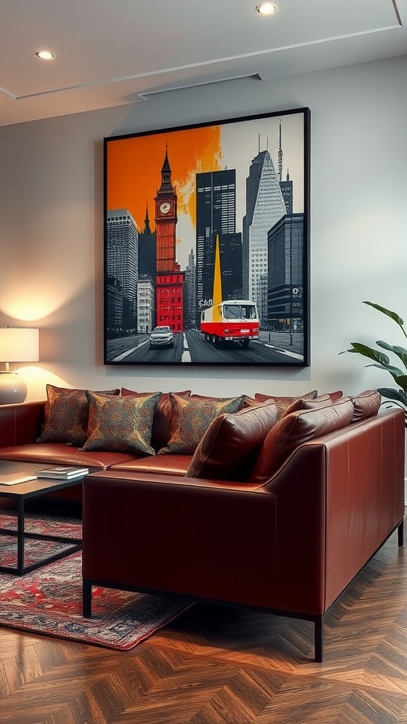
[[[392,312],[390,309],[386,309],[385,307],[381,307],[379,304],[374,304],[374,302],[365,301],[363,303],[369,304],[369,306],[374,307],[374,309],[377,309],[379,312],[390,316],[390,319],[393,319],[393,321],[398,324],[398,327],[400,327],[404,337],[407,339],[407,333],[404,329],[404,321],[397,313]],[[403,363],[403,369],[394,366],[391,363],[389,356],[384,352],[380,352],[380,350],[364,345],[361,342],[351,342],[351,349],[343,351],[363,355],[364,357],[373,360],[373,362],[366,365],[366,367],[379,367],[379,369],[384,369],[391,374],[394,381],[398,384],[399,389],[396,389],[395,387],[378,387],[377,391],[380,392],[382,397],[387,397],[387,400],[392,400],[395,405],[398,405],[398,407],[404,410],[407,427],[407,350],[403,347],[399,347],[398,345],[389,345],[387,342],[383,342],[383,340],[377,340],[376,344],[377,347],[396,355]],[[343,353],[340,352],[340,354]]]

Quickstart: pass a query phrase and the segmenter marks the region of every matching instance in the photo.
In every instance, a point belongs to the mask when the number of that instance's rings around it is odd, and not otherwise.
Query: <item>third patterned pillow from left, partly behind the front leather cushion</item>
[[[169,392],[172,404],[171,433],[159,455],[193,455],[214,419],[227,412],[238,412],[245,395],[240,397],[179,397]]]

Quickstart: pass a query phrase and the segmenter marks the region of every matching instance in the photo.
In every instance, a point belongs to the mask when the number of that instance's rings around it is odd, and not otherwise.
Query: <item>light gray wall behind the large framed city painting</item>
[[[407,314],[406,85],[401,58],[0,127],[0,324],[41,327],[41,362],[21,371],[28,399],[43,398],[46,382],[222,395],[390,384],[338,353],[351,340],[403,345],[395,324],[361,302]],[[105,367],[104,136],[302,106],[311,109],[311,366]]]

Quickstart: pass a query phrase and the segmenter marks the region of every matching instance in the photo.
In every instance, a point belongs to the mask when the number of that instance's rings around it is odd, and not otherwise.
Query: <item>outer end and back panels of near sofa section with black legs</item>
[[[260,456],[273,454],[267,437]],[[256,607],[313,621],[322,661],[324,615],[395,529],[403,544],[403,412],[302,442],[268,479],[259,455],[244,481],[88,476],[84,615],[92,586]]]

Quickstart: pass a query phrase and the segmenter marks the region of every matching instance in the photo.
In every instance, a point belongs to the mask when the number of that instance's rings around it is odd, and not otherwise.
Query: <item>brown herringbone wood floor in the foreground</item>
[[[196,605],[130,652],[0,629],[1,724],[407,724],[397,534],[310,623]]]

